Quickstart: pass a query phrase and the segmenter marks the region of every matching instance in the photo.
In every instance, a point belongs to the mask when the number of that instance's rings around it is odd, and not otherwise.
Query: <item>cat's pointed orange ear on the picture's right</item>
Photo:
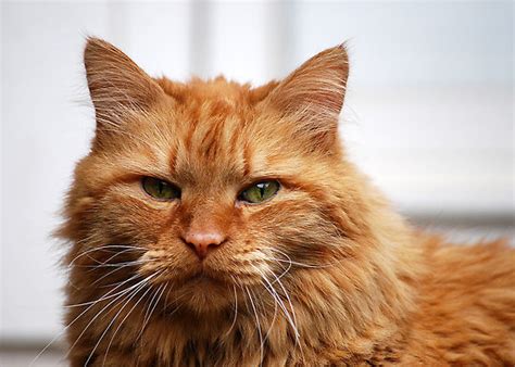
[[[344,45],[304,62],[269,93],[267,102],[317,143],[331,144],[343,106],[349,59]]]

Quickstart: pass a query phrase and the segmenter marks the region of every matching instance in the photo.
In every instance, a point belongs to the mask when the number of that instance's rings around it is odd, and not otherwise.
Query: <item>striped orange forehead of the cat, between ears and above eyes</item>
[[[269,168],[261,114],[263,91],[216,78],[176,84],[160,79],[172,97],[152,134],[152,156],[181,180],[239,180]],[[261,96],[259,96],[261,93]],[[268,122],[269,123],[269,122]],[[146,124],[150,129],[154,124]],[[163,134],[165,135],[163,137]]]

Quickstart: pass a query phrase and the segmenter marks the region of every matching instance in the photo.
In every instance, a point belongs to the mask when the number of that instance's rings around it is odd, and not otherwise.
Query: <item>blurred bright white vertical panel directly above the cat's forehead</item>
[[[205,75],[219,74],[260,85],[277,77],[285,41],[280,4],[267,1],[206,3],[210,61]]]

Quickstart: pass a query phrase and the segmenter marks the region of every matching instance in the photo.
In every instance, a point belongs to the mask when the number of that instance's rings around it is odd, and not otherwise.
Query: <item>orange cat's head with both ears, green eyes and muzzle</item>
[[[97,136],[63,232],[76,242],[71,262],[99,265],[92,281],[145,279],[204,312],[341,251],[336,239],[352,231],[331,185],[344,169],[343,48],[256,89],[152,79],[96,39],[85,62]]]

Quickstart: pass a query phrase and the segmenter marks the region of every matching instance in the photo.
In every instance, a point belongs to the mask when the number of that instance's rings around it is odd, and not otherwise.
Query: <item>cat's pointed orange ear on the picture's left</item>
[[[148,110],[163,94],[133,60],[101,39],[88,38],[84,65],[98,127],[120,125],[127,114]]]

